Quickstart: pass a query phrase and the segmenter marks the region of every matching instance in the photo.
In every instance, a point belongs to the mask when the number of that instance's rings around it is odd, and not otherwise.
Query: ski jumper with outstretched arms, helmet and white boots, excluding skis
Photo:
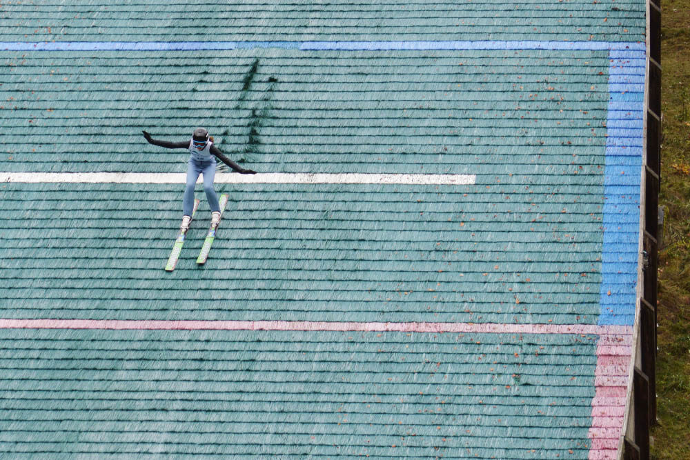
[[[192,208],[194,206],[194,186],[197,183],[199,174],[204,174],[204,192],[206,192],[206,199],[208,199],[208,206],[211,208],[211,221],[218,223],[220,220],[220,205],[215,189],[213,188],[213,179],[215,178],[216,160],[218,157],[226,163],[226,165],[233,168],[233,170],[240,174],[256,174],[253,170],[248,170],[240,167],[235,161],[226,157],[223,152],[218,150],[213,145],[213,137],[208,135],[208,131],[204,128],[197,128],[192,134],[190,141],[182,142],[168,142],[157,141],[153,139],[146,131],[144,137],[148,143],[154,146],[165,148],[186,148],[190,151],[189,161],[187,162],[187,186],[184,190],[184,199],[182,200],[182,226],[180,230],[186,232],[189,228],[189,223],[192,220]]]

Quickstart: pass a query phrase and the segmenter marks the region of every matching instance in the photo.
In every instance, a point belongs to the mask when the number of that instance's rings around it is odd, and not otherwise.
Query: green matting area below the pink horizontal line
[[[596,337],[0,330],[0,454],[587,459]]]

